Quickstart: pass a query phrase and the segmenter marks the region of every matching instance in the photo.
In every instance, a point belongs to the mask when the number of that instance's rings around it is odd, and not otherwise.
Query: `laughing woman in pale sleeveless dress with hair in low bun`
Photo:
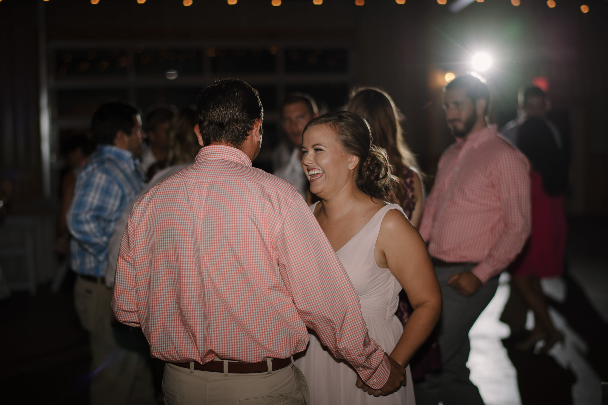
[[[308,123],[302,154],[310,191],[320,199],[311,211],[359,296],[370,338],[390,352],[387,360],[406,386],[392,393],[390,377],[384,386],[375,378],[364,383],[313,335],[295,362],[308,381],[309,403],[364,404],[368,395],[391,394],[382,403],[413,404],[407,364],[439,318],[441,294],[420,235],[399,205],[385,202],[399,180],[386,151],[373,145],[367,122],[352,112]],[[414,308],[405,328],[395,316],[402,288]]]

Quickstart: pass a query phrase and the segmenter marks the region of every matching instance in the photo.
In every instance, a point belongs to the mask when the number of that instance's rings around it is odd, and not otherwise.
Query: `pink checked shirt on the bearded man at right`
[[[474,262],[485,284],[522,250],[531,226],[527,158],[488,126],[443,152],[420,234],[430,256]]]

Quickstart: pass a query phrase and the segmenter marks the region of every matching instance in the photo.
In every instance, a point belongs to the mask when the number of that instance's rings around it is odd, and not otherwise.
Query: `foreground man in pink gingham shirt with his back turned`
[[[317,332],[370,395],[405,369],[368,336],[359,299],[291,183],[251,162],[260,152],[257,90],[220,80],[202,90],[195,162],[133,207],[112,308],[142,327],[164,360],[167,404],[305,404],[293,355]],[[353,379],[353,389],[357,389]]]

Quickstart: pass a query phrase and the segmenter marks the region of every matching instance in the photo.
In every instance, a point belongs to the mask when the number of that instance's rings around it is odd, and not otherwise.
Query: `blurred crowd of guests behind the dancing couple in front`
[[[463,76],[447,84],[444,109],[455,143],[441,156],[434,179],[406,145],[404,117],[389,94],[357,88],[344,106],[364,118],[372,145],[389,160],[396,180],[384,199],[420,230],[441,288],[441,319],[402,365],[410,367],[418,404],[483,404],[466,367],[468,332],[503,271],[511,274],[512,287],[503,319],[517,350],[546,353],[564,339],[548,314],[540,280],[564,272],[568,128],[551,120],[539,87],[523,87],[518,101],[517,117],[499,130],[486,121],[490,100],[483,81]],[[311,192],[303,163],[303,132],[323,116],[320,104],[308,94],[289,94],[280,104],[281,136],[272,152],[272,174],[295,186],[307,205],[322,200]],[[195,107],[165,105],[142,114],[133,104],[109,103],[95,112],[91,137],[76,135],[64,145],[55,248],[77,273],[75,308],[90,336],[93,404],[167,401],[164,362],[150,356],[140,328],[116,320],[112,288],[134,203],[195,162],[202,147],[200,114]],[[429,180],[434,186],[427,193]],[[7,204],[10,183],[3,182],[0,215]],[[2,282],[0,269],[0,295]],[[418,307],[401,290],[396,316],[402,325]],[[528,310],[534,313],[531,331],[525,328]]]

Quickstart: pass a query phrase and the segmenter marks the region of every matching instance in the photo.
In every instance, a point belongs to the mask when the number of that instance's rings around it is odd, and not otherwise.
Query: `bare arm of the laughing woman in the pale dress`
[[[396,209],[382,220],[376,263],[389,268],[404,288],[413,312],[390,356],[406,366],[426,341],[441,315],[441,290],[423,239]]]

